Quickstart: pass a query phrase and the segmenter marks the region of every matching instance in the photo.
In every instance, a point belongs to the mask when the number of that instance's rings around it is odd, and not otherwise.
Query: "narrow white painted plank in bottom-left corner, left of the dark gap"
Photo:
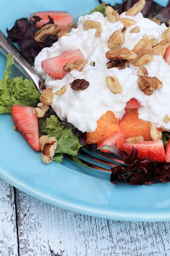
[[[0,256],[18,256],[14,189],[0,179]]]

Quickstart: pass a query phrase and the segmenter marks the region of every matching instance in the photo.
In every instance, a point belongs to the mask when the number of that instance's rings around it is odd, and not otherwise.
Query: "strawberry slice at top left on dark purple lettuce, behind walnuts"
[[[74,23],[74,17],[68,14],[68,12],[35,12],[31,14],[30,20],[34,20],[34,15],[42,18],[42,20],[37,22],[37,27],[41,27],[42,25],[48,23],[48,15],[54,19],[54,24],[60,26],[61,30],[66,30],[69,23]]]

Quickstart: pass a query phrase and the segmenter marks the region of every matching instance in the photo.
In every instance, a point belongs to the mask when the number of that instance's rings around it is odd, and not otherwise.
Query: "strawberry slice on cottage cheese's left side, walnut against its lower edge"
[[[68,73],[68,71],[63,70],[65,64],[68,62],[73,63],[78,59],[82,61],[85,59],[80,49],[42,61],[42,69],[48,76],[55,79],[62,79]]]

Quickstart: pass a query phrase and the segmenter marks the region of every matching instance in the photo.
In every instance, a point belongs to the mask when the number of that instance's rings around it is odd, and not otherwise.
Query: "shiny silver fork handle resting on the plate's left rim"
[[[11,52],[14,56],[14,64],[19,67],[20,71],[24,73],[28,78],[30,78],[37,90],[41,89],[41,86],[43,84],[43,79],[40,75],[38,75],[28,61],[23,57],[23,55],[19,52],[19,50],[12,44],[6,36],[3,34],[3,32],[0,30],[0,52],[3,53],[3,55],[7,55],[9,52]]]

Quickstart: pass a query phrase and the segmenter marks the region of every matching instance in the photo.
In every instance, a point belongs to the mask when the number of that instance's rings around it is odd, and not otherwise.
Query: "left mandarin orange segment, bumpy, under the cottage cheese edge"
[[[97,121],[96,130],[86,133],[86,142],[88,144],[99,143],[99,141],[104,140],[106,137],[110,136],[116,131],[120,131],[118,119],[115,117],[112,111],[108,111]]]

